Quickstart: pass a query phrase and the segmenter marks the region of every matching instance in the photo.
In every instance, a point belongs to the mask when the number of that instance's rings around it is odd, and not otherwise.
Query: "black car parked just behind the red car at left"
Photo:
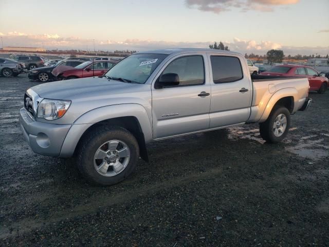
[[[47,82],[50,80],[54,80],[54,76],[51,74],[52,70],[59,65],[75,67],[85,61],[81,59],[68,59],[68,60],[61,60],[54,65],[40,67],[40,68],[33,68],[29,71],[28,77],[31,80],[39,80],[42,82]]]

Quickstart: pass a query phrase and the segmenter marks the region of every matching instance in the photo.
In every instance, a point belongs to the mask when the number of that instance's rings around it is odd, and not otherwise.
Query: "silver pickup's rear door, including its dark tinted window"
[[[210,128],[246,122],[252,85],[243,57],[209,54],[211,64]]]

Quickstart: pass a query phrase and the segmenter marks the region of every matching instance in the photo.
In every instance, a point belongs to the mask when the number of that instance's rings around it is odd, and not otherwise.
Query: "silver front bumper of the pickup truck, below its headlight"
[[[59,156],[65,136],[71,125],[35,121],[27,111],[20,110],[20,126],[25,139],[35,153]]]

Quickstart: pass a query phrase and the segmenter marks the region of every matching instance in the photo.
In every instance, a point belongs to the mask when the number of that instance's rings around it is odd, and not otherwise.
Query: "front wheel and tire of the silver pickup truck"
[[[132,133],[121,127],[103,126],[90,131],[81,140],[77,166],[88,181],[113,185],[135,170],[138,157],[138,142]]]

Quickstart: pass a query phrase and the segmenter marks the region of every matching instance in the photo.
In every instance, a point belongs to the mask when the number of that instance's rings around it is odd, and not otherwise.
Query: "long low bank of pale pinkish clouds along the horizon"
[[[23,46],[23,47],[45,47],[46,49],[94,49],[94,41],[91,39],[81,39],[79,37],[60,37],[58,34],[26,34],[17,31],[3,33],[4,46]],[[218,42],[218,41],[217,41]],[[153,50],[163,48],[209,48],[213,41],[206,42],[177,42],[177,41],[155,41],[155,40],[95,40],[96,50]],[[284,54],[290,55],[312,55],[329,54],[327,47],[294,47],[284,46],[272,41],[255,41],[234,38],[232,41],[225,41],[225,45],[230,50],[241,52],[242,54],[251,52],[254,54],[264,55],[270,49],[282,49]]]

